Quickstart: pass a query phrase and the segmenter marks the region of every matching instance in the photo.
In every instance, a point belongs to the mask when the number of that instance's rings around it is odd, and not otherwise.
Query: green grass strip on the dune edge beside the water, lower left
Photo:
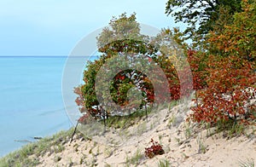
[[[39,156],[45,153],[60,153],[65,147],[64,143],[68,142],[73,134],[73,129],[61,131],[50,137],[45,137],[39,141],[35,141],[21,147],[19,150],[9,153],[0,158],[0,166],[36,166],[40,164]],[[35,155],[33,158],[31,155]]]

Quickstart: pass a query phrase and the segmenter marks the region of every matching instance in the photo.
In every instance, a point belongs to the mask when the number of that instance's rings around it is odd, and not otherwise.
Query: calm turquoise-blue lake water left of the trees
[[[67,57],[0,56],[0,157],[73,126],[61,95]],[[75,105],[75,104],[74,104]]]

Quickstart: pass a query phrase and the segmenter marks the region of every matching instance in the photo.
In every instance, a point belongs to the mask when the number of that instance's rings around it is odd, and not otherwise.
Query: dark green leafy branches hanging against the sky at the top
[[[234,14],[241,10],[241,0],[168,0],[166,14],[172,14],[177,22],[188,24],[185,34],[195,37],[196,34],[205,35],[212,30],[220,17],[221,8]],[[198,29],[196,26],[199,26]]]

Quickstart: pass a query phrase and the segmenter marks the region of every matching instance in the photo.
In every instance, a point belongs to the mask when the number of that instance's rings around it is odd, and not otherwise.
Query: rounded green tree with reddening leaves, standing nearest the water
[[[90,114],[93,118],[108,118],[109,115],[127,114],[120,111],[120,108],[107,108],[104,111],[102,106],[109,106],[108,102],[113,101],[119,107],[125,107],[129,104],[129,114],[138,105],[140,108],[147,103],[152,102],[154,98],[154,90],[152,83],[148,80],[143,72],[137,70],[126,69],[125,66],[132,66],[136,63],[136,59],[140,56],[154,56],[155,49],[152,45],[146,43],[148,37],[140,34],[139,24],[136,21],[135,14],[130,17],[121,14],[119,18],[113,17],[109,26],[103,29],[102,33],[97,37],[98,50],[102,53],[99,60],[89,62],[84,71],[84,84],[75,89],[75,93],[79,95],[77,104],[80,111],[84,114]],[[131,64],[127,64],[127,60]],[[141,63],[150,63],[147,60]],[[107,64],[107,65],[106,65]],[[103,66],[104,65],[104,66]],[[102,70],[102,71],[100,71]],[[102,72],[99,74],[99,72]],[[101,78],[112,76],[112,80],[97,80],[96,76]],[[100,83],[101,87],[96,88],[96,83]],[[111,97],[108,97],[108,89],[110,89]],[[96,97],[96,91],[102,99],[99,103]],[[131,91],[131,92],[129,92]],[[135,95],[139,91],[141,95]],[[133,97],[139,99],[132,99]],[[131,101],[133,103],[131,103]],[[87,110],[87,112],[85,112]],[[121,112],[121,113],[120,113]],[[134,111],[133,111],[134,112]],[[86,116],[86,118],[89,118]],[[79,119],[83,122],[85,118]]]

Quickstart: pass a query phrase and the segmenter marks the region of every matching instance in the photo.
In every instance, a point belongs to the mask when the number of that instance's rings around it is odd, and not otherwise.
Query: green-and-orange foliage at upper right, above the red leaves
[[[242,11],[234,14],[234,21],[224,29],[208,36],[209,50],[218,55],[236,55],[253,61],[256,59],[256,3],[242,1]]]

